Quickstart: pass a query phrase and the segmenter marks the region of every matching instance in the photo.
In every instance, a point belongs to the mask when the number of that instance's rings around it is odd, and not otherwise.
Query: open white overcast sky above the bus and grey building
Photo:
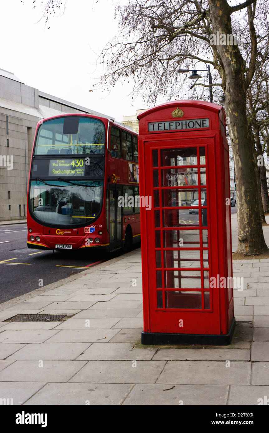
[[[48,29],[45,19],[40,20],[41,0],[35,9],[32,0],[1,0],[0,68],[42,92],[119,121],[135,114],[136,109],[147,108],[141,98],[131,100],[131,86],[126,84],[118,84],[110,94],[89,92],[102,72],[96,70],[97,55],[117,32],[113,3],[68,0],[62,16],[50,17]]]

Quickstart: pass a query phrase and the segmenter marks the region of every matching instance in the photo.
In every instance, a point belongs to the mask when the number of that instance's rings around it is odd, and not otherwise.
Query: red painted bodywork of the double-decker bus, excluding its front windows
[[[100,215],[91,223],[84,223],[81,226],[76,227],[62,227],[61,225],[42,223],[37,221],[30,209],[30,183],[31,180],[35,180],[35,175],[32,175],[32,166],[36,158],[42,158],[42,155],[34,155],[36,139],[40,126],[48,120],[54,120],[61,117],[68,116],[80,116],[89,117],[91,119],[97,119],[104,123],[105,126],[105,153],[104,153],[104,189],[103,189],[103,200]],[[131,182],[128,173],[128,164],[136,164],[138,171],[138,162],[126,160],[122,158],[112,157],[108,147],[110,148],[110,132],[111,127],[120,130],[120,136],[122,132],[131,134],[133,137],[137,137],[138,134],[131,131],[128,128],[114,122],[112,119],[107,119],[104,117],[87,115],[81,113],[65,114],[60,116],[50,117],[45,120],[39,121],[36,127],[35,141],[32,149],[31,166],[29,171],[29,183],[28,183],[28,194],[27,194],[27,227],[28,227],[28,237],[27,246],[28,248],[34,249],[57,249],[55,245],[71,245],[72,249],[81,248],[92,248],[92,247],[104,247],[106,250],[118,249],[126,246],[126,239],[128,239],[129,244],[140,241],[140,214],[133,207],[133,211],[129,211],[124,214],[123,208],[117,206],[117,196],[124,196],[124,187],[138,186],[138,182]],[[109,128],[109,131],[108,131]],[[108,138],[108,145],[107,145]],[[122,147],[122,146],[121,146]],[[111,150],[111,149],[110,149]],[[88,157],[91,155],[87,155]],[[43,155],[47,157],[47,155]],[[63,156],[61,155],[63,158]],[[76,157],[72,155],[72,158]],[[55,158],[49,155],[49,159]],[[64,158],[69,158],[68,155],[64,155]],[[78,155],[80,158],[80,155]],[[89,179],[89,178],[88,178]],[[51,181],[53,178],[51,178]],[[81,180],[81,178],[80,178]],[[86,180],[84,177],[82,180]],[[111,202],[113,206],[114,200],[114,225],[112,215],[111,215]],[[117,226],[117,228],[116,228]],[[114,235],[117,233],[117,239],[111,239],[111,229],[114,230]],[[127,236],[127,237],[126,237]],[[40,239],[36,240],[36,237]],[[131,238],[130,238],[131,237]],[[30,239],[31,238],[31,239]],[[34,240],[33,240],[34,238]],[[93,242],[89,244],[88,239],[91,238]],[[114,236],[116,238],[116,235]],[[99,240],[99,242],[96,240]],[[131,242],[130,242],[131,239]],[[127,243],[128,243],[127,242]],[[130,245],[129,245],[130,246]]]

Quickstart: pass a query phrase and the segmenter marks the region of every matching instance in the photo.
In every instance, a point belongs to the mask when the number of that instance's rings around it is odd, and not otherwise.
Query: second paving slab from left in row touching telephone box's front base
[[[102,343],[101,343],[102,344]],[[32,343],[18,350],[10,359],[76,359],[91,343]]]

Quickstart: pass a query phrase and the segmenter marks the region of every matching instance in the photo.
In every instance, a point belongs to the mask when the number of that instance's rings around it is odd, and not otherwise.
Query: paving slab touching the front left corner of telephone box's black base
[[[136,349],[132,343],[93,343],[77,359],[88,360],[150,360],[157,349]]]

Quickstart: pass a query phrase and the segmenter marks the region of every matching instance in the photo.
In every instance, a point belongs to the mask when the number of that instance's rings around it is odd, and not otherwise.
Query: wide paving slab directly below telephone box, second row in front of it
[[[250,362],[168,361],[157,383],[173,385],[250,385]]]

